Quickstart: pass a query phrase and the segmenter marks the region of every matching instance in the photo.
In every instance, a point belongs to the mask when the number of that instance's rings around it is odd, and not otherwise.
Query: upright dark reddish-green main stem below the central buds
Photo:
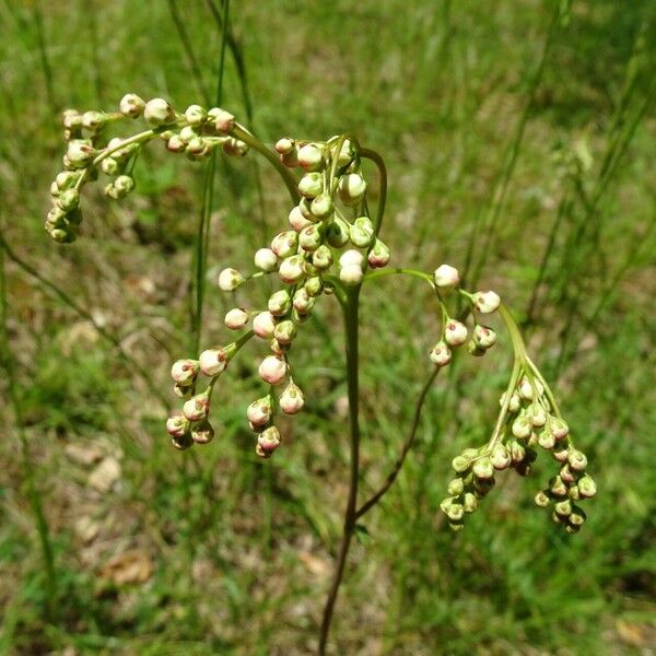
[[[335,602],[344,574],[344,565],[349,547],[355,529],[358,519],[358,479],[360,476],[360,422],[359,422],[359,380],[358,380],[358,311],[359,311],[360,286],[350,288],[347,292],[347,302],[342,305],[344,314],[345,347],[347,347],[347,380],[349,391],[349,418],[351,437],[351,478],[349,485],[349,500],[344,512],[344,528],[339,549],[337,569],[326,600],[324,619],[321,621],[321,633],[319,637],[319,656],[326,654],[328,632],[335,611]]]

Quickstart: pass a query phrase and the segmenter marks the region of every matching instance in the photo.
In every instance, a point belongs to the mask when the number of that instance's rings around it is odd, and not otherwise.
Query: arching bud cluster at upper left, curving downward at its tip
[[[109,128],[124,119],[143,118],[149,129],[128,138],[108,138]],[[98,174],[109,178],[105,194],[115,200],[134,189],[131,168],[141,148],[153,139],[162,139],[169,152],[185,153],[190,160],[202,160],[221,147],[229,155],[243,155],[247,145],[231,134],[234,116],[224,109],[204,109],[191,105],[184,114],[177,113],[163,98],[148,102],[133,93],[126,94],[118,112],[84,112],[67,109],[63,113],[65,138],[63,171],[50,187],[51,208],[45,227],[59,243],[75,239],[82,221],[80,191],[95,180]]]

